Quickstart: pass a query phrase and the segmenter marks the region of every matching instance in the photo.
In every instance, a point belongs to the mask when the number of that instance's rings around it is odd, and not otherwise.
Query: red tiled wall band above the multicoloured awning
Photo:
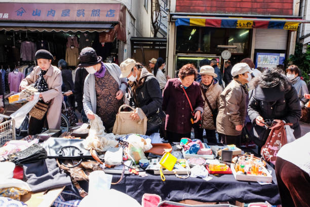
[[[176,12],[293,15],[293,0],[176,0]]]

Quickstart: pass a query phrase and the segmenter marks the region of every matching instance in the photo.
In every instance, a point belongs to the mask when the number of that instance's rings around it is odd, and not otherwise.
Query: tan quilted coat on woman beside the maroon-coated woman
[[[213,110],[219,108],[219,97],[222,91],[223,91],[222,87],[218,84],[218,81],[214,79],[213,84],[207,89],[205,93]],[[201,127],[204,129],[212,129],[212,130],[216,129],[213,123],[211,109],[209,108],[208,103],[205,100],[205,96],[203,94],[202,97],[204,99],[204,113]]]

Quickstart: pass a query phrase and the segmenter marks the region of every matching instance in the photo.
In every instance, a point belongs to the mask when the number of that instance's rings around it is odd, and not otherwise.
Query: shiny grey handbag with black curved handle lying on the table
[[[81,139],[65,139],[50,137],[43,143],[43,147],[47,151],[48,158],[59,159],[80,159],[78,166],[83,161],[83,158],[93,158],[90,151],[84,148],[84,140]]]

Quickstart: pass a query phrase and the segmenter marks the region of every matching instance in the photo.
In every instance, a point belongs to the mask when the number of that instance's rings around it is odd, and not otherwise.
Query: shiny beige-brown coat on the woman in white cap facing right
[[[246,96],[242,85],[232,80],[220,95],[220,107],[216,117],[216,130],[218,133],[238,136],[236,126],[243,125],[246,117]]]

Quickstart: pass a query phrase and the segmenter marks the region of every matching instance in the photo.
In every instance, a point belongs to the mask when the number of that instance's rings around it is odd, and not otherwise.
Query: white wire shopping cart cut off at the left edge
[[[0,114],[0,147],[10,140],[16,140],[15,121],[9,116]]]

